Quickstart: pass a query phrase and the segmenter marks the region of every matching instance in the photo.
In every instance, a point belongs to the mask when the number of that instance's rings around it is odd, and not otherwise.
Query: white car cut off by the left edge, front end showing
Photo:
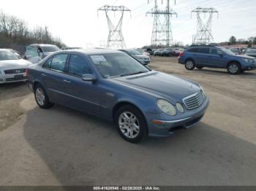
[[[0,49],[0,84],[8,82],[26,82],[26,69],[31,63],[19,59],[9,50]]]

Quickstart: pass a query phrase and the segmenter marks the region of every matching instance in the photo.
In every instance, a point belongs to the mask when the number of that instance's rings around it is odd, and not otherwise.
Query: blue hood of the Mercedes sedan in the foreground
[[[165,98],[173,104],[200,90],[196,82],[158,71],[129,77],[118,77],[113,80],[137,88],[144,93],[153,95],[155,98]]]

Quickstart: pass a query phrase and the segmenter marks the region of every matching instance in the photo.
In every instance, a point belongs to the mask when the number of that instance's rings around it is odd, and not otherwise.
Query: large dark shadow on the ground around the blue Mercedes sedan
[[[255,184],[256,145],[205,122],[131,144],[111,122],[35,107],[23,135],[61,185]]]

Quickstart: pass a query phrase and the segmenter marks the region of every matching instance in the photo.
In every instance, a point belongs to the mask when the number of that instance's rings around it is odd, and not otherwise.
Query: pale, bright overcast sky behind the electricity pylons
[[[166,6],[166,0],[157,1],[160,8]],[[105,12],[97,13],[105,4],[131,9],[131,16],[124,14],[122,28],[128,48],[150,44],[154,17],[146,16],[146,12],[154,7],[154,0],[0,0],[0,9],[25,20],[29,28],[47,26],[67,46],[91,48],[100,47],[108,39]],[[214,42],[227,41],[230,36],[256,36],[256,0],[176,0],[176,4],[170,0],[170,7],[178,14],[171,18],[173,42],[191,44],[197,26],[196,15],[191,11],[196,7],[219,11],[212,22]],[[109,15],[114,24],[120,16],[111,12]]]

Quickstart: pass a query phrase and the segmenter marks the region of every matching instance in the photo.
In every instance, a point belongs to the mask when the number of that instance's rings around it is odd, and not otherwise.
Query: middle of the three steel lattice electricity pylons
[[[170,47],[173,44],[173,34],[170,26],[170,17],[177,16],[177,13],[170,8],[170,0],[167,0],[166,9],[161,10],[157,5],[157,0],[154,1],[154,8],[146,12],[146,15],[154,15],[153,30],[151,36],[151,45],[162,45]],[[160,16],[165,16],[165,21],[162,22]]]

